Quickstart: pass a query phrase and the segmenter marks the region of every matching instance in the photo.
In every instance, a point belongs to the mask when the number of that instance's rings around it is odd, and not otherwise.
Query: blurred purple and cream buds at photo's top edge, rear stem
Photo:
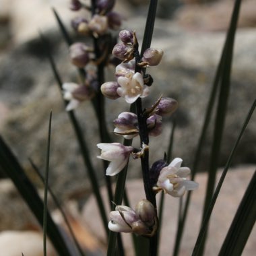
[[[117,30],[121,26],[121,15],[113,11],[115,0],[97,0],[95,1],[95,13],[90,19],[77,17],[71,24],[75,31],[82,35],[102,36],[108,32],[108,29]],[[82,1],[71,0],[70,9],[78,11],[79,9],[89,9],[83,5]]]

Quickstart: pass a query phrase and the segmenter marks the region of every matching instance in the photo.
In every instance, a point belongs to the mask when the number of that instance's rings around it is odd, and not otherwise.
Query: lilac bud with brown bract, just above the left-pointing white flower
[[[125,139],[132,139],[139,134],[137,115],[134,113],[123,112],[113,123],[115,125],[114,133],[123,135]]]

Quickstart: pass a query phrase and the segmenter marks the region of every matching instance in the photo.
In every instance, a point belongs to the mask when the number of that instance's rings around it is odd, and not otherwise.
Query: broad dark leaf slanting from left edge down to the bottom
[[[38,220],[41,226],[43,226],[43,203],[40,199],[34,185],[30,182],[24,169],[20,166],[18,160],[11,152],[3,138],[0,136],[0,169],[5,172],[7,177],[13,181],[15,187],[18,189],[20,195],[27,203],[28,207]],[[56,251],[61,256],[71,256],[69,249],[65,245],[65,241],[61,236],[59,229],[51,215],[47,213],[47,233]]]

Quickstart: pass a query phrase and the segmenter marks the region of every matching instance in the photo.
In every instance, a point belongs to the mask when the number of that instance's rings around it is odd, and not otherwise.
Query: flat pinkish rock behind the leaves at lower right
[[[212,213],[210,230],[208,233],[208,239],[205,247],[205,255],[218,255],[222,242],[226,236],[226,232],[232,222],[238,204],[240,203],[245,189],[249,184],[253,172],[255,172],[256,166],[238,166],[228,171],[226,179],[220,191],[220,195],[214,206]],[[218,179],[222,169],[218,171]],[[185,225],[185,232],[183,235],[183,242],[181,243],[181,252],[179,255],[191,255],[193,246],[199,232],[199,226],[201,222],[201,211],[203,209],[203,200],[205,195],[205,187],[207,177],[206,174],[197,174],[195,181],[199,183],[199,189],[193,191],[191,197],[191,205],[189,207],[189,215],[187,223]],[[235,188],[235,189],[234,189]],[[129,202],[131,207],[134,207],[137,201],[145,198],[143,192],[143,185],[141,180],[132,180],[126,183],[126,191],[129,196]],[[102,189],[102,197],[106,203],[106,190]],[[160,199],[160,195],[157,195],[157,199]],[[106,203],[106,209],[109,210],[108,203]],[[172,252],[174,246],[174,238],[177,229],[177,214],[179,209],[179,199],[165,196],[164,200],[164,213],[162,219],[162,233],[160,243],[160,255],[169,255]],[[89,226],[92,233],[100,240],[104,239],[104,230],[102,222],[98,214],[96,201],[94,197],[90,197],[84,206],[82,211],[82,217],[84,222]],[[91,221],[92,218],[94,221]],[[133,247],[131,246],[130,234],[122,234],[127,255],[133,255]],[[214,243],[213,243],[214,241]],[[245,250],[244,256],[253,255],[256,246],[256,228],[254,227]]]

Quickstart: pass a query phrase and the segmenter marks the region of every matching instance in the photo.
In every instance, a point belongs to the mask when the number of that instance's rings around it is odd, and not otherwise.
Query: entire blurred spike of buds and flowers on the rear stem
[[[115,0],[97,0],[94,6],[94,15],[90,19],[77,17],[72,20],[71,25],[79,34],[93,36],[99,38],[108,32],[108,29],[118,29],[121,26],[121,16],[113,11]],[[90,9],[84,5],[82,1],[71,0],[70,9],[79,11],[80,9]],[[103,47],[104,48],[104,47]],[[102,57],[96,59],[94,50],[84,42],[75,42],[69,46],[69,57],[71,63],[79,69],[86,71],[83,84],[65,83],[63,84],[64,99],[69,101],[66,110],[73,110],[79,103],[84,100],[92,99],[98,92],[99,85],[96,82],[94,69],[89,63],[98,64],[100,61],[105,61],[108,57],[108,47],[105,47],[106,52]],[[87,70],[89,69],[89,70]]]

